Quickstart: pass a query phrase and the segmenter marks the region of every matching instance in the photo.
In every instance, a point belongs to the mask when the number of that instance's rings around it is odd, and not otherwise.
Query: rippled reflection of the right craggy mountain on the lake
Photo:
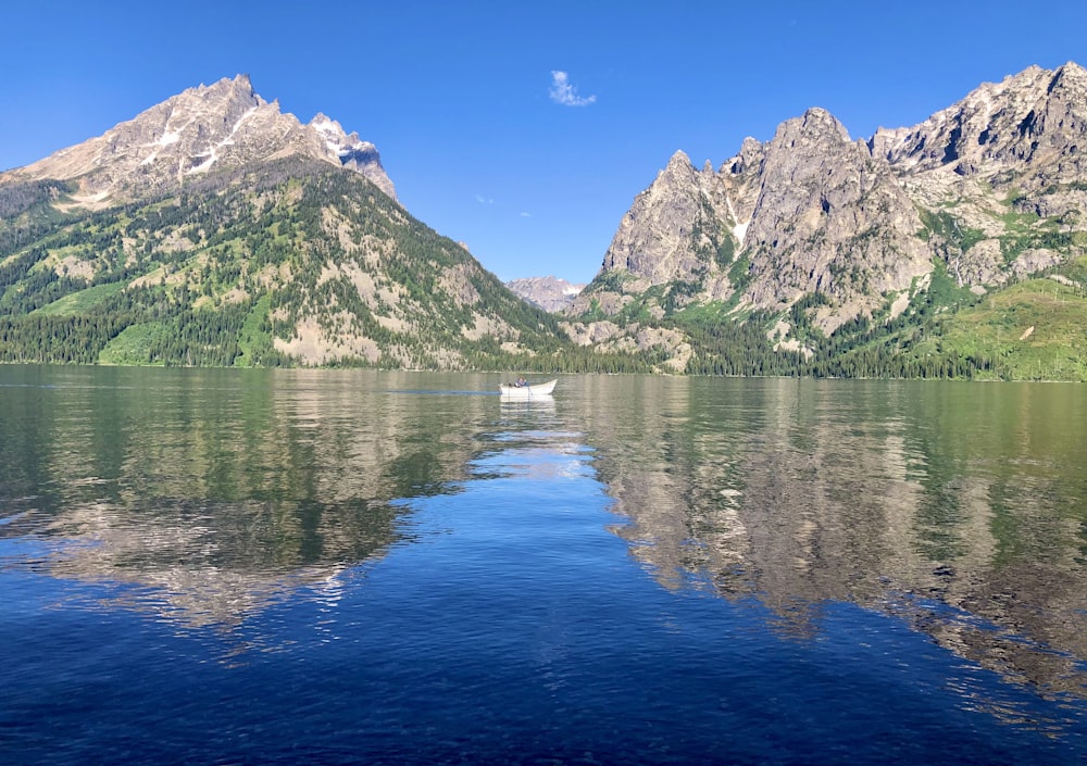
[[[898,615],[1087,696],[1087,402],[1074,386],[629,378],[580,389],[620,529],[665,588]]]

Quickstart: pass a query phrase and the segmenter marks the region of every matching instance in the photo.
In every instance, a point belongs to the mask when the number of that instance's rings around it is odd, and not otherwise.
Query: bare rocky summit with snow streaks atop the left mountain
[[[373,143],[323,114],[303,125],[258,96],[247,75],[190,88],[0,180],[76,180],[75,202],[101,208],[291,154],[350,167],[396,197]]]

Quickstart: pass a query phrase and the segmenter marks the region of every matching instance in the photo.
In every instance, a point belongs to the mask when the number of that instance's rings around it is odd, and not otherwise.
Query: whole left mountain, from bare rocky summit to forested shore
[[[0,361],[552,366],[557,321],[239,75],[0,174]],[[585,359],[592,359],[586,351]]]

